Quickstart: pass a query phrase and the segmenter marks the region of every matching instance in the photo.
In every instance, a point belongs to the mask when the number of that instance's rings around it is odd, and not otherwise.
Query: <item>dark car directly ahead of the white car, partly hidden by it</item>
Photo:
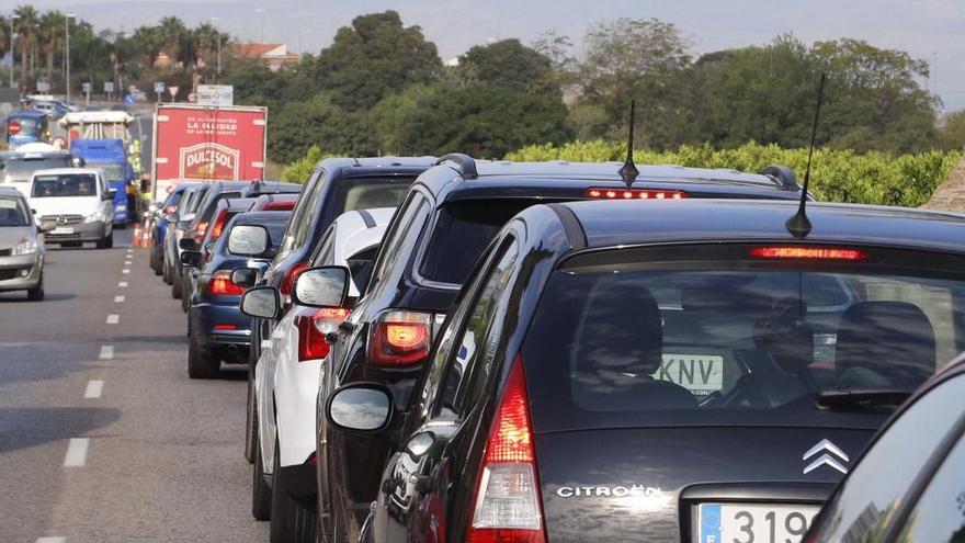
[[[295,275],[307,267],[308,258],[336,217],[354,210],[397,206],[409,185],[433,163],[433,157],[379,157],[329,158],[315,165],[295,204],[279,256],[259,280],[259,285],[274,286],[281,292],[280,316],[290,305],[288,296]],[[275,319],[252,320],[246,443],[253,441],[253,377],[261,357],[261,341],[271,337],[276,324]],[[251,446],[246,446],[245,457],[254,462]]]

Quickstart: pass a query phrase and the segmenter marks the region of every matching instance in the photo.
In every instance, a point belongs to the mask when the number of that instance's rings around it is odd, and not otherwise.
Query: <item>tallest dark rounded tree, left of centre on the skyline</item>
[[[402,26],[399,14],[361,15],[343,26],[316,60],[317,84],[349,111],[367,110],[388,94],[439,76],[435,44],[418,26]]]

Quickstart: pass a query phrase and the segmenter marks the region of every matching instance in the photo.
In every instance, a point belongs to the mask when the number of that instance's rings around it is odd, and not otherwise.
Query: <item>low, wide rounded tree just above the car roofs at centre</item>
[[[559,99],[504,87],[441,88],[400,126],[407,155],[466,152],[501,158],[523,145],[561,143],[571,133]]]

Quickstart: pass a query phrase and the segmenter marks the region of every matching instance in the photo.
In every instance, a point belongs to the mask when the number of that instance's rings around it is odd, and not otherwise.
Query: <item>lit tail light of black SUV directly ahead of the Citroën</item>
[[[386,312],[368,331],[368,361],[387,366],[418,364],[429,358],[431,344],[432,314]]]

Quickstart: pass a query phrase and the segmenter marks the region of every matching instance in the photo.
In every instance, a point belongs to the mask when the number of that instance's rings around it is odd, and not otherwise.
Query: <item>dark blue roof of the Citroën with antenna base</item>
[[[667,241],[802,241],[784,226],[796,202],[780,200],[593,201],[572,211],[588,248]],[[860,204],[810,202],[803,242],[882,245],[965,252],[965,215]]]

